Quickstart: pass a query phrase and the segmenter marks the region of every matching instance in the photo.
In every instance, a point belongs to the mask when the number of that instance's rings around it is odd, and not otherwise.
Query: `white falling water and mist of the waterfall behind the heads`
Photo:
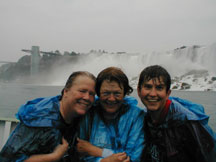
[[[192,46],[183,49],[175,49],[167,52],[153,53],[89,53],[82,54],[75,63],[55,65],[53,72],[49,73],[51,85],[64,85],[67,77],[77,70],[87,70],[97,75],[102,69],[109,66],[117,66],[128,75],[132,84],[136,85],[139,73],[149,65],[159,64],[165,67],[171,77],[181,76],[191,70],[207,70],[208,76],[201,76],[201,80],[192,82],[193,76],[184,81],[190,82],[191,90],[205,90],[207,82],[216,76],[216,43],[209,46]],[[200,85],[200,86],[196,86]],[[206,87],[206,89],[209,86]],[[216,90],[216,81],[210,85],[210,89]]]

